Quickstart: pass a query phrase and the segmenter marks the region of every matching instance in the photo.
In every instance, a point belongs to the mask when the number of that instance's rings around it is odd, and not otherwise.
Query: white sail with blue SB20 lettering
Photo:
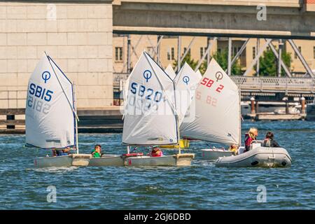
[[[143,52],[128,78],[123,144],[177,144],[174,83]]]

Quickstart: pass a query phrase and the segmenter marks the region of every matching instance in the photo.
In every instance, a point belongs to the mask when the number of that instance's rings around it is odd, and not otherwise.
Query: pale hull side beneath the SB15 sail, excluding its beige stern
[[[36,168],[71,167],[72,166],[72,155],[35,158],[34,159],[34,166]]]

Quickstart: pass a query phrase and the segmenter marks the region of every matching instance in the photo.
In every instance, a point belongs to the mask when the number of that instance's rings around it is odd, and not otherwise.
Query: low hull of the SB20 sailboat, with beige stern
[[[163,155],[161,157],[136,156],[125,158],[125,166],[190,166],[191,161],[195,158],[193,153],[183,153],[176,155]]]

